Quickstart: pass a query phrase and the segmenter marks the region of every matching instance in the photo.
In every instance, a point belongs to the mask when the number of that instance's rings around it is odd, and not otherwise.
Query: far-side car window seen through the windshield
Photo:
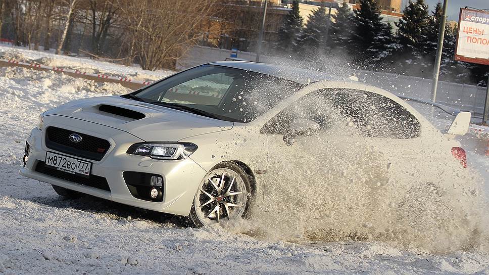
[[[233,77],[226,75],[226,73],[204,75],[169,88],[164,96],[158,100],[217,106],[232,82]],[[188,97],[188,95],[193,96]]]

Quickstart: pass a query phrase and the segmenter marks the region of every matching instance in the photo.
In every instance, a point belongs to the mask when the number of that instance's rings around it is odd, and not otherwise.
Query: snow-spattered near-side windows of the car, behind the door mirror
[[[284,134],[298,118],[316,122],[319,131],[336,129],[343,135],[410,139],[420,131],[419,121],[393,100],[368,91],[324,89],[285,108],[261,132]]]

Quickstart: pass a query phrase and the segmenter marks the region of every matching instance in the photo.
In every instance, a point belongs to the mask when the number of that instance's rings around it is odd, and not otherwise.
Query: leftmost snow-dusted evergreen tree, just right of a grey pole
[[[285,16],[282,26],[278,30],[276,49],[290,52],[297,36],[301,33],[303,18],[299,14],[299,2],[292,1],[292,9]]]

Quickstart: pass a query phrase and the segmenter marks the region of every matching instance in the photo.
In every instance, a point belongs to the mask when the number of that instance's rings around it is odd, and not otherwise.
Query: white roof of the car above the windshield
[[[208,64],[267,74],[301,84],[309,84],[311,82],[324,80],[347,80],[340,76],[332,75],[325,72],[306,70],[284,65],[257,63],[249,61],[218,61]]]

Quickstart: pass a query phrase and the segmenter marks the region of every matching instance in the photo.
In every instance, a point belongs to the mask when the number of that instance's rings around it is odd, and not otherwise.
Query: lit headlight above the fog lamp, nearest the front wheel
[[[151,157],[154,159],[184,159],[197,150],[193,143],[136,143],[127,154]]]

